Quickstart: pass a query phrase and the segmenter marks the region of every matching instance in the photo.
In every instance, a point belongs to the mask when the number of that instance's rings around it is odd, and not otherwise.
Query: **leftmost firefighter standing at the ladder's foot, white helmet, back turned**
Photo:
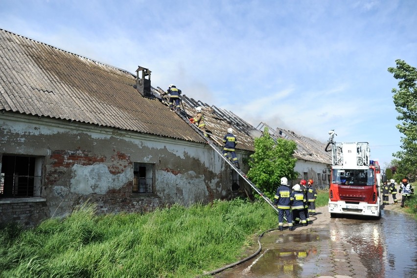
[[[284,228],[284,214],[287,218],[287,223],[290,231],[294,229],[291,218],[291,190],[288,186],[288,179],[281,177],[281,185],[277,188],[277,193],[274,196],[274,205],[278,208],[278,229],[280,231]]]

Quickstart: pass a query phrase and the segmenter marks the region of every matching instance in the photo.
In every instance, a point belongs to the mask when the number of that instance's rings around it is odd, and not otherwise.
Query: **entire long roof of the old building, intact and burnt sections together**
[[[0,29],[1,110],[205,142],[167,107],[164,90],[151,87],[156,98],[150,99],[140,95],[135,84],[136,76],[128,71]],[[198,106],[214,142],[223,146],[222,139],[232,127],[236,149],[254,151],[254,138],[262,134],[259,126],[182,95],[188,118],[195,116]],[[295,141],[296,158],[331,163],[324,143],[280,128],[270,132]]]

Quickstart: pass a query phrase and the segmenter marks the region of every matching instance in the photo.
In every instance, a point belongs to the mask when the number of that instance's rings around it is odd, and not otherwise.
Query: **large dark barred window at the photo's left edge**
[[[40,196],[41,157],[2,155],[0,165],[0,198]]]

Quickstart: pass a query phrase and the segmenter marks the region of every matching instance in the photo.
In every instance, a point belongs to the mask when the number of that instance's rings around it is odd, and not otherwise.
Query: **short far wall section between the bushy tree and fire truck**
[[[300,176],[299,176],[299,179],[296,180],[295,182],[299,182],[300,179],[303,179],[303,173],[307,173],[308,179],[312,178],[314,180],[313,185],[317,189],[328,188],[328,181],[322,179],[323,169],[328,168],[328,167],[330,166],[323,164],[323,163],[298,159],[294,170],[297,171],[300,174]],[[317,174],[320,174],[320,178],[318,177]],[[323,175],[327,177],[327,174],[323,174]]]

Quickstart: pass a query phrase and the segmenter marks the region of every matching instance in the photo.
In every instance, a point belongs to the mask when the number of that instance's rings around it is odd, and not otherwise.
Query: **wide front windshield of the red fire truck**
[[[375,173],[373,169],[333,169],[332,183],[374,185]]]

